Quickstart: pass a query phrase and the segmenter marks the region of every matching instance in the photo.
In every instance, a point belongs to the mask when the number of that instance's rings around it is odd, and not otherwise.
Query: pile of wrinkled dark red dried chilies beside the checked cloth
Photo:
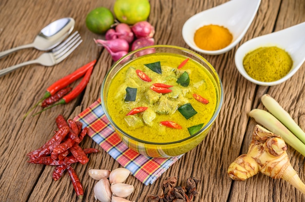
[[[74,163],[88,163],[89,158],[86,154],[98,152],[95,148],[82,149],[79,143],[87,134],[88,128],[82,129],[82,123],[69,119],[62,115],[56,118],[58,131],[37,150],[29,152],[29,163],[56,166],[52,177],[57,181],[65,172],[68,171],[73,187],[78,197],[83,196],[82,184],[77,177],[76,171],[71,167]]]

